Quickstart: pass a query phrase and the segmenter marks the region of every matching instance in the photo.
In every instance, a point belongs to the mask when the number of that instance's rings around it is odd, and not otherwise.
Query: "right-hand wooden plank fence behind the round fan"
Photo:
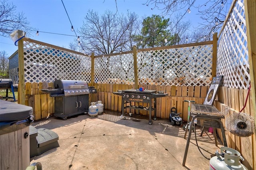
[[[228,115],[225,116],[228,117],[234,112],[239,112],[245,104],[246,96],[248,93],[248,89],[236,89],[236,88],[228,88],[228,87],[220,87],[218,91],[218,101],[215,101],[215,106],[218,110],[224,109],[223,106],[229,106],[232,109],[230,109],[230,112]],[[248,97],[248,101],[244,108],[244,113],[247,113],[248,115],[251,115],[252,117],[255,114],[255,111],[252,108],[252,93],[250,93]],[[225,120],[222,119],[222,123],[225,127]],[[225,127],[226,130],[226,127]],[[222,139],[222,135],[220,129],[217,129],[220,139]],[[242,157],[244,158],[244,161],[242,161],[242,164],[246,166],[248,169],[255,169],[255,156],[256,153],[252,152],[253,150],[256,150],[256,144],[255,144],[255,134],[249,137],[238,137],[234,134],[230,133],[228,130],[225,131],[226,133],[226,140],[228,147],[233,148],[241,153]],[[254,166],[253,166],[254,164]]]

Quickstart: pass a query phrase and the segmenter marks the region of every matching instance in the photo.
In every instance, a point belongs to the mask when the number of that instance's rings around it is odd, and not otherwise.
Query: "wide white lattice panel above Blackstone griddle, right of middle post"
[[[212,45],[138,52],[139,83],[210,85]]]

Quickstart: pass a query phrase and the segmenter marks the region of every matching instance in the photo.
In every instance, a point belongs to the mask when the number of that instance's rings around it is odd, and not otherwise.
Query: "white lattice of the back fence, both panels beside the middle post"
[[[210,85],[212,45],[139,51],[139,84]],[[134,84],[133,54],[95,59],[95,82]]]

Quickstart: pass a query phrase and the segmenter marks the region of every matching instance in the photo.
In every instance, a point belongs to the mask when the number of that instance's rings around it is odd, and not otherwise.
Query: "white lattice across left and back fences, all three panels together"
[[[134,84],[133,53],[95,57],[94,82]],[[137,52],[139,84],[210,85],[212,44]],[[90,83],[91,58],[24,41],[26,82],[55,79]]]

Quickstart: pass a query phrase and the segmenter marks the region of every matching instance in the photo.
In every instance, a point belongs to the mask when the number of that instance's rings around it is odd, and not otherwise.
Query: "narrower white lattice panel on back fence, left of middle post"
[[[134,84],[133,54],[95,58],[95,83]]]

